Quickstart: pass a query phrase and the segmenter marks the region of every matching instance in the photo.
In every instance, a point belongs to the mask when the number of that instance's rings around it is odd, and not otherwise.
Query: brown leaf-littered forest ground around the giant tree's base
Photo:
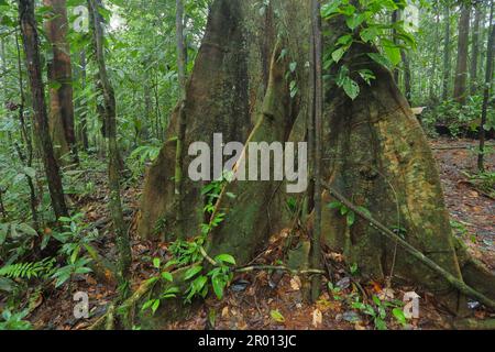
[[[462,238],[470,252],[495,268],[495,201],[493,189],[484,188],[482,183],[472,183],[469,175],[475,174],[476,156],[474,141],[437,139],[431,142],[441,172],[448,208],[457,235]],[[487,156],[487,168],[495,170],[495,155]],[[101,177],[100,177],[101,176]],[[91,199],[79,205],[86,221],[95,223],[103,235],[96,243],[100,253],[114,257],[116,246],[109,231],[109,217],[106,209],[107,191],[105,174],[98,176],[100,189]],[[140,189],[128,188],[124,194],[127,220],[134,221]],[[133,227],[134,228],[134,227]],[[132,228],[132,229],[133,229]],[[132,231],[132,230],[131,230]],[[279,260],[287,232],[272,238],[268,246],[256,258],[256,264],[273,264]],[[165,243],[133,244],[133,285],[150,277],[154,272],[152,260],[164,257]],[[327,253],[332,266],[332,282],[337,290],[324,290],[317,304],[304,300],[301,278],[280,273],[252,272],[234,277],[226,297],[219,301],[208,298],[199,315],[186,321],[169,326],[169,329],[374,329],[374,319],[354,309],[356,297],[363,302],[372,302],[372,297],[392,300],[402,299],[406,292],[421,296],[420,317],[403,327],[388,310],[385,321],[389,329],[449,329],[451,317],[436,305],[435,299],[418,287],[387,288],[384,283],[362,282],[350,274],[343,265],[342,256]],[[91,318],[78,320],[73,316],[73,294],[87,292],[90,299]],[[76,277],[70,285],[58,290],[31,295],[29,320],[36,329],[86,329],[102,316],[116,297],[116,288],[97,280],[94,275]],[[473,315],[477,319],[493,318],[473,302]],[[136,327],[139,328],[139,327]]]

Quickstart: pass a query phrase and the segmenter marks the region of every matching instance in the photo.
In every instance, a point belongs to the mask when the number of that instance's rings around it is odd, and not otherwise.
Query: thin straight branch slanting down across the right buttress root
[[[486,297],[485,295],[479,293],[474,288],[468,286],[465,283],[453,276],[451,273],[447,272],[443,267],[428,258],[425,254],[419,252],[417,249],[415,249],[411,244],[403,240],[399,235],[391,231],[387,227],[385,227],[383,223],[371,217],[370,215],[363,212],[359,207],[356,207],[354,204],[352,204],[348,198],[342,196],[338,190],[336,190],[332,186],[328,185],[327,183],[322,184],[324,188],[328,189],[331,196],[333,196],[336,199],[338,199],[340,202],[342,202],[345,207],[354,211],[358,216],[360,216],[362,219],[370,222],[371,226],[373,226],[376,230],[378,230],[382,234],[387,237],[388,239],[396,241],[404,250],[406,250],[410,255],[416,257],[418,261],[427,265],[429,268],[441,275],[443,278],[447,279],[453,287],[459,289],[462,294],[476,298],[480,302],[485,305],[486,307],[491,309],[495,309],[495,301]]]

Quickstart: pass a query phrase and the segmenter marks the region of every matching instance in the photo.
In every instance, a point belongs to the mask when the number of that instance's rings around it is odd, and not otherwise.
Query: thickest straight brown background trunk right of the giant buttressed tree
[[[471,4],[461,6],[461,19],[459,21],[458,38],[458,65],[455,68],[455,82],[453,98],[463,105],[468,98],[468,54],[470,43],[470,16]]]

